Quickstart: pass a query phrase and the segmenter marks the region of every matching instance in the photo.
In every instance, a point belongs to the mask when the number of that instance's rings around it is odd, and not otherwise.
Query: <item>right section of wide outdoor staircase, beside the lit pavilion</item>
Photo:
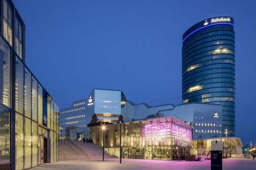
[[[102,159],[102,148],[96,144],[84,143],[82,141],[73,141],[76,146],[80,147],[86,152],[89,159]],[[104,152],[104,158],[117,158],[115,155],[109,155],[106,151]]]

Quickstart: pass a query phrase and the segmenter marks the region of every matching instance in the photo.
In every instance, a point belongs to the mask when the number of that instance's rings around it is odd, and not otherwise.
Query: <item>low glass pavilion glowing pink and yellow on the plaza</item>
[[[91,137],[103,146],[102,126],[91,127]],[[190,155],[192,127],[175,118],[122,123],[122,157],[132,159],[181,160]],[[104,149],[120,156],[120,124],[106,125]]]

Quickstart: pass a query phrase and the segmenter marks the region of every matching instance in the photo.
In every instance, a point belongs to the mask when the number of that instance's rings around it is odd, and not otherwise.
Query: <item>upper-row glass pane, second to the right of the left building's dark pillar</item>
[[[24,111],[25,116],[31,118],[31,98],[32,98],[32,87],[31,87],[31,73],[25,68],[24,72],[25,81],[24,81]]]

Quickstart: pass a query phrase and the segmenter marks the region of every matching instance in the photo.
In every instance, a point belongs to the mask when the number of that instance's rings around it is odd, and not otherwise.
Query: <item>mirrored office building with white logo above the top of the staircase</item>
[[[119,90],[93,89],[87,99],[73,102],[60,112],[60,138],[90,137],[88,124],[97,122],[123,122],[121,107],[126,104],[124,93]]]

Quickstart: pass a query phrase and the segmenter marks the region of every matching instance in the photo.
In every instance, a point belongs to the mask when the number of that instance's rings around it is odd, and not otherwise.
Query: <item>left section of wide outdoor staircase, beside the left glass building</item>
[[[88,159],[86,153],[76,146],[72,141],[60,140],[59,142],[59,160],[83,160]]]

